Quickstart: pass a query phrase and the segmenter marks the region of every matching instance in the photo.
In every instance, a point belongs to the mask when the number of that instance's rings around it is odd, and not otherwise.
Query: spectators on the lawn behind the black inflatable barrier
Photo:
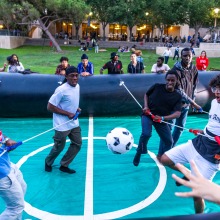
[[[97,42],[93,42],[95,47],[95,53],[98,53],[99,47]],[[84,46],[83,46],[84,47]],[[80,49],[84,51],[83,47]],[[85,46],[86,47],[86,46]],[[195,55],[195,51],[193,47],[190,47],[192,54]],[[86,51],[86,50],[85,50]],[[120,53],[130,52],[130,63],[127,65],[127,68],[123,70],[123,64],[119,60]],[[174,55],[171,52],[170,47],[164,51],[163,55],[158,57],[155,64],[151,67],[152,73],[166,73],[170,67],[168,65],[169,58],[173,56],[173,60],[176,62],[179,61],[180,47],[176,46],[174,49]],[[114,55],[114,56],[113,56]],[[144,64],[144,59],[141,50],[137,50],[136,46],[128,47],[120,47],[118,52],[113,52],[110,55],[110,60],[107,62],[99,71],[100,74],[103,74],[104,69],[108,69],[108,74],[122,74],[122,73],[145,73],[146,66]],[[57,66],[55,70],[56,75],[65,75],[65,70],[70,66],[68,57],[61,57],[60,64]],[[106,66],[107,65],[107,66]],[[201,55],[196,58],[196,67],[199,71],[208,70],[209,59],[207,57],[206,51],[202,51]],[[92,76],[95,74],[94,65],[89,61],[88,55],[86,53],[82,54],[81,62],[77,65],[78,72],[80,76]],[[23,64],[19,61],[19,58],[16,54],[12,54],[7,57],[7,63],[4,63],[3,67],[0,68],[0,72],[10,72],[10,73],[33,73],[30,69],[25,69]]]

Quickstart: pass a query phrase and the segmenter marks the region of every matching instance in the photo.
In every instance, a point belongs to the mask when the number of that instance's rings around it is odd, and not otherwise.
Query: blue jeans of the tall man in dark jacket
[[[188,111],[189,111],[189,107],[186,107],[186,108],[183,107],[181,109],[180,117],[177,118],[176,120],[174,120],[174,125],[180,126],[182,128],[178,128],[178,127],[174,127],[173,128],[173,133],[172,133],[173,147],[176,146],[176,143],[178,142],[181,134],[183,133],[183,128],[185,127],[185,124],[186,124],[186,119],[187,119]]]

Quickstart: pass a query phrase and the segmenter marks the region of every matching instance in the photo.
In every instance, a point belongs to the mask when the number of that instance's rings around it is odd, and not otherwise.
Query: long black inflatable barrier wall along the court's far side
[[[220,72],[199,72],[196,102],[205,111],[214,97],[209,81]],[[164,74],[119,74],[80,77],[81,116],[140,115],[141,109],[120,80],[143,105],[144,93],[154,83],[164,83]],[[47,74],[0,74],[0,117],[49,117],[47,103],[63,76]]]

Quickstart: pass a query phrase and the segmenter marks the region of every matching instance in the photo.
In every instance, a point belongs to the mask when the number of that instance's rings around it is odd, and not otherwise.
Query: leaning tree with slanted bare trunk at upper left
[[[59,20],[67,20],[70,17],[75,18],[76,21],[78,15],[82,21],[82,14],[87,10],[87,7],[84,8],[85,10],[83,9],[83,6],[85,6],[85,1],[83,0],[9,0],[8,2],[11,5],[16,3],[13,8],[14,20],[22,25],[40,27],[52,41],[58,52],[62,50],[50,33],[50,26]],[[65,13],[63,13],[64,11]],[[80,19],[76,22],[79,23]]]

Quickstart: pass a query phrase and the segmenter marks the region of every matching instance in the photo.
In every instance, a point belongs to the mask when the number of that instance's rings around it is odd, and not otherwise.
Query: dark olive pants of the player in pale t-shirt
[[[68,167],[69,164],[73,161],[76,157],[78,152],[81,149],[82,145],[82,137],[81,137],[81,128],[73,128],[68,131],[55,131],[54,139],[54,146],[51,149],[49,155],[46,157],[45,162],[48,166],[51,166],[58,155],[62,152],[66,144],[66,137],[70,139],[70,146],[60,161],[60,164],[64,167]]]

